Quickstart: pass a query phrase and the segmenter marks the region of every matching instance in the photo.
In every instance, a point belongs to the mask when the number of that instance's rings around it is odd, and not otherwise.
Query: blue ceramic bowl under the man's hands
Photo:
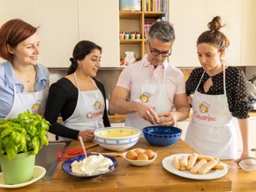
[[[149,126],[142,129],[142,132],[150,144],[169,146],[177,143],[181,137],[182,129],[171,126]]]

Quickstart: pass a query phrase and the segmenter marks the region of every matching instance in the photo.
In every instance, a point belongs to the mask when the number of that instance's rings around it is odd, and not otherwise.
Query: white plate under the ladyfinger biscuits
[[[190,155],[190,154],[181,153],[181,154],[171,155],[162,160],[162,166],[171,174],[177,174],[178,176],[193,179],[193,180],[213,180],[213,179],[220,178],[228,173],[228,169],[229,169],[228,165],[224,163],[222,163],[222,165],[225,166],[224,169],[210,170],[207,174],[191,174],[190,171],[179,171],[173,166],[172,160],[174,156],[177,156],[177,158],[180,159],[184,155]]]

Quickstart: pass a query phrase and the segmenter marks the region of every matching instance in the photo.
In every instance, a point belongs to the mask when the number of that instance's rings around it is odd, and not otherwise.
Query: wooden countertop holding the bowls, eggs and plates
[[[91,143],[85,143],[86,146]],[[80,147],[78,141],[74,141],[71,147]],[[191,180],[170,174],[162,167],[162,159],[172,154],[191,153],[192,148],[179,140],[177,144],[169,147],[157,147],[147,143],[144,138],[132,148],[152,149],[158,153],[154,162],[148,166],[131,166],[122,157],[117,157],[118,166],[112,173],[105,174],[94,179],[79,179],[65,174],[62,170],[62,160],[56,168],[52,180],[49,183],[33,183],[15,191],[255,191],[256,171],[245,173],[237,168],[233,161],[223,161],[230,165],[229,173],[216,180]],[[106,152],[100,146],[96,146],[87,152]],[[1,188],[1,191],[10,191]]]

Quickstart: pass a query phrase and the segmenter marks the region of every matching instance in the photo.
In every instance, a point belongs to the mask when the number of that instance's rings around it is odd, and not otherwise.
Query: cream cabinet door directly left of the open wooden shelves
[[[79,0],[79,41],[102,47],[102,67],[119,66],[119,1]]]

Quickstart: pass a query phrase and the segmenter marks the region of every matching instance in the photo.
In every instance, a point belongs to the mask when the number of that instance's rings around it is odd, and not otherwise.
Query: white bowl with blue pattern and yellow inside
[[[96,142],[111,151],[129,149],[138,142],[139,136],[140,130],[132,127],[108,127],[94,131]]]

